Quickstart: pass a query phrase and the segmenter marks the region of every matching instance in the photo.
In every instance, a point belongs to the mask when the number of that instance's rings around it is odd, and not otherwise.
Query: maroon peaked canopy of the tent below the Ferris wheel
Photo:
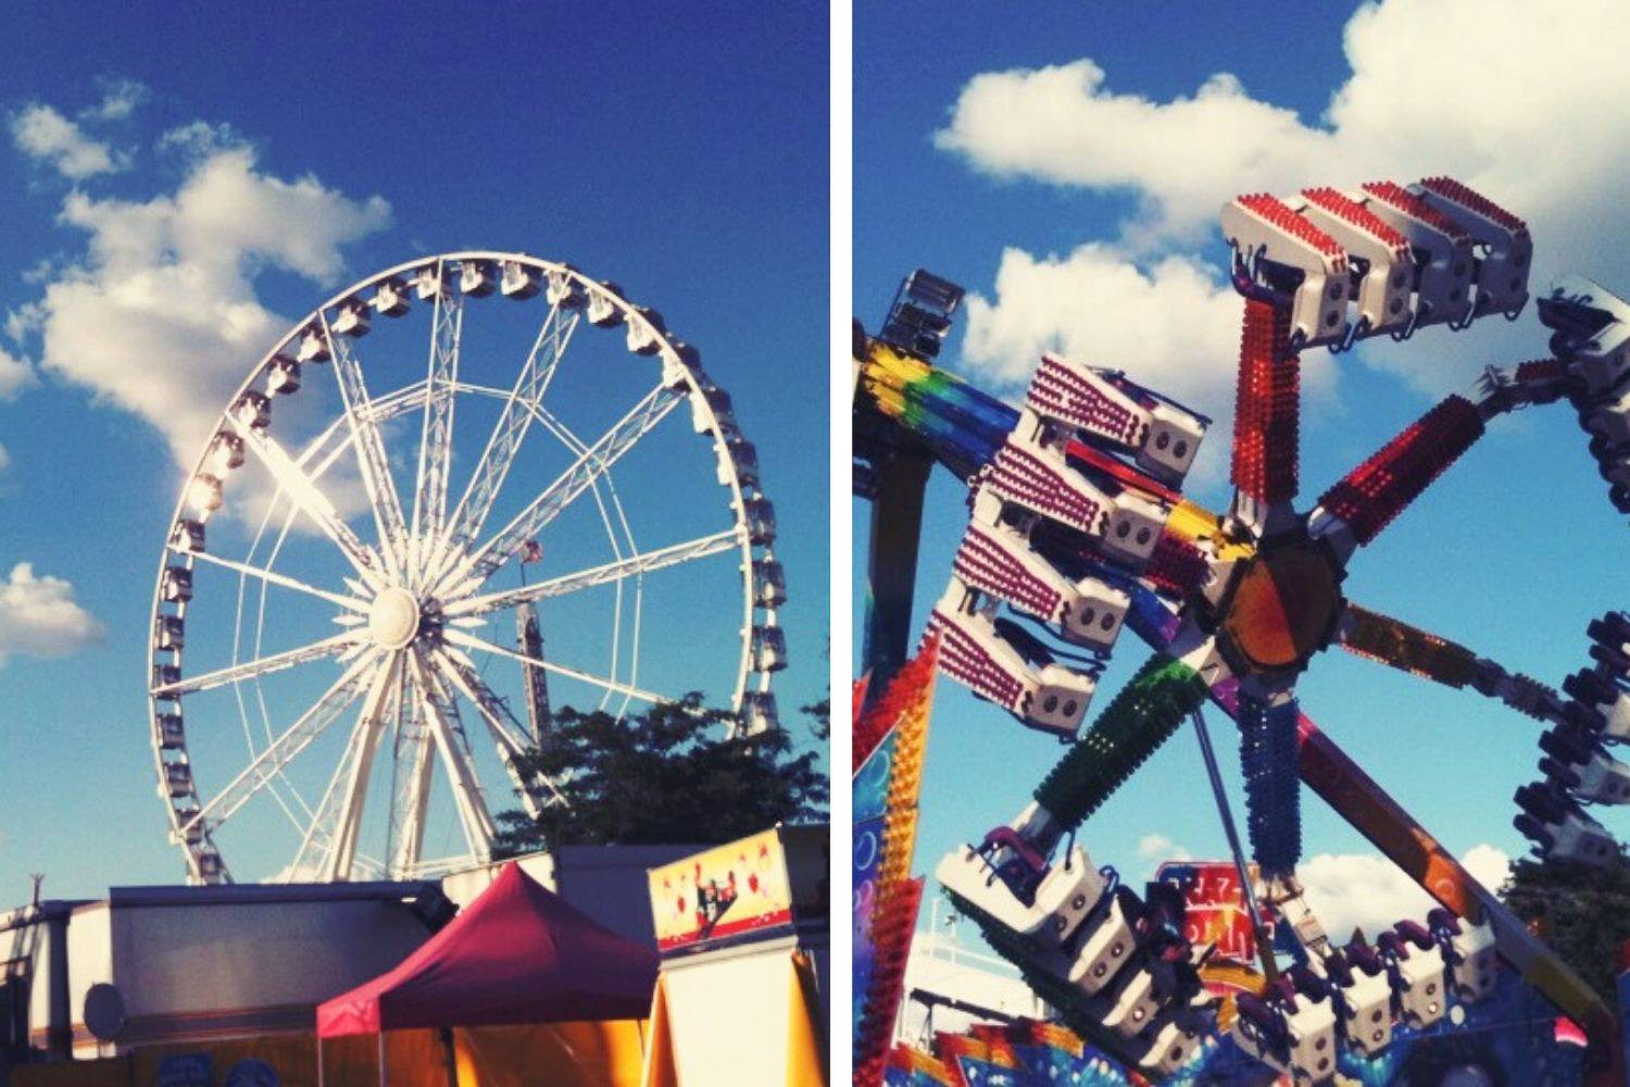
[[[655,950],[600,927],[510,862],[396,970],[318,1007],[316,1032],[644,1019],[655,984]]]

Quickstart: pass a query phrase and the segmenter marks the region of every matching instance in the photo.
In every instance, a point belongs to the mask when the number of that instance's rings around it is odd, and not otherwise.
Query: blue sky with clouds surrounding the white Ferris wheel
[[[223,407],[207,401],[289,319],[429,253],[570,261],[703,349],[778,507],[794,662],[778,691],[813,743],[795,707],[826,676],[822,5],[750,18],[686,5],[660,20],[639,5],[456,20],[243,10],[230,26],[168,5],[117,16],[24,5],[7,18],[0,904],[23,900],[28,872],[47,872],[54,896],[178,877],[143,673],[178,458],[197,451],[192,416]],[[132,301],[145,284],[184,279],[178,266],[202,269],[199,308],[241,328],[189,328],[174,295]],[[85,305],[52,293],[85,284]],[[163,350],[130,357],[121,306],[147,306],[140,336],[153,339],[140,344]],[[375,342],[362,342],[365,360]],[[645,388],[629,385],[618,409]],[[577,396],[588,416],[606,409],[588,383]],[[688,433],[683,416],[668,425]],[[675,458],[618,476],[624,502],[680,504]],[[711,464],[683,466],[701,484],[689,494],[719,502]],[[675,539],[665,517],[647,517],[650,543]],[[675,678],[698,631],[738,614],[720,618],[701,582],[668,592],[645,654]],[[241,849],[249,875],[275,870],[271,847]]]

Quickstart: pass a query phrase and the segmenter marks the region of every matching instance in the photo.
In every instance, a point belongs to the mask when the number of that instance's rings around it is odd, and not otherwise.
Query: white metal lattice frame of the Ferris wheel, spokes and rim
[[[499,287],[517,300],[541,295],[548,306],[536,341],[507,389],[471,383],[460,375],[466,305]],[[404,315],[412,295],[430,311],[425,376],[373,394],[363,363],[367,350],[355,341],[375,316]],[[579,438],[544,406],[544,394],[584,321],[624,329],[629,350],[652,357],[660,372],[655,386],[603,435],[590,440]],[[341,412],[303,448],[292,451],[277,440],[272,416],[279,414],[280,394],[298,391],[302,367],[306,383],[333,368]],[[502,409],[455,502],[450,469],[453,417],[461,396],[496,399]],[[729,494],[729,525],[696,539],[641,549],[629,531],[611,469],[686,403],[694,429],[712,447],[719,482]],[[386,424],[414,411],[421,412],[419,447],[416,458],[406,461],[416,471],[411,504],[404,504],[391,476]],[[541,492],[523,495],[522,512],[492,531],[487,520],[512,481],[510,469],[533,424],[564,445],[572,463]],[[214,554],[205,523],[230,494],[228,473],[249,458],[275,482],[275,494],[243,557]],[[347,525],[329,497],[331,473],[337,464],[349,464],[349,458],[360,469],[372,541]],[[518,588],[496,587],[492,577],[515,552],[585,494],[597,504],[613,561]],[[275,569],[302,517],[342,559],[328,583],[311,583]],[[569,797],[561,782],[528,781],[517,771],[515,759],[526,748],[528,730],[492,691],[469,654],[491,654],[588,683],[603,693],[603,706],[611,699],[619,699],[624,709],[631,701],[672,701],[639,684],[644,577],[716,554],[738,554],[742,570],[740,654],[730,693],[737,724],[732,728],[774,727],[771,675],[784,667],[786,654],[778,626],[784,588],[773,543],[773,508],[758,486],[756,458],[735,425],[729,398],[703,372],[696,352],[665,331],[660,316],[629,303],[610,284],[525,254],[471,251],[411,261],[336,293],[298,321],[249,370],[228,401],[215,437],[176,504],[160,559],[148,657],[152,746],[170,836],[184,852],[189,880],[231,880],[215,834],[258,799],[280,807],[300,831],[298,854],[285,878],[412,878],[484,860],[496,826],[473,761],[461,704],[481,722],[526,812],[567,803]],[[210,579],[236,580],[233,663],[187,675],[183,657],[192,593],[214,592],[220,585],[220,580],[194,585],[194,577],[210,567],[222,572]],[[613,587],[616,596],[608,675],[535,658],[468,629],[479,626],[484,616],[597,585]],[[342,631],[295,649],[264,652],[267,624],[269,619],[275,624],[277,611],[271,588],[334,608]],[[624,590],[632,596],[631,631],[623,629]],[[409,631],[408,640],[381,637],[381,616],[393,606],[403,629]],[[621,676],[624,654],[628,675]],[[318,668],[324,662],[331,662],[328,667],[337,663],[337,678],[303,712],[274,720],[259,681],[275,671]],[[227,776],[223,786],[207,792],[192,772],[184,706],[189,696],[218,688],[235,694],[251,758]],[[352,725],[344,753],[321,799],[310,805],[285,771],[347,715]],[[264,737],[256,737],[258,732]],[[368,784],[380,758],[390,759],[390,826],[385,856],[372,859],[363,856],[360,843]],[[425,812],[437,766],[452,784],[468,852],[432,859],[425,857]]]

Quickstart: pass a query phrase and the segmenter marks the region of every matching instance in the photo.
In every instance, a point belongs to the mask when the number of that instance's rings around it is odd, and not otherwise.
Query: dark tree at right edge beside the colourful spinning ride
[[[1602,867],[1516,860],[1500,896],[1609,1007],[1619,1007],[1619,952],[1630,940],[1623,846]]]

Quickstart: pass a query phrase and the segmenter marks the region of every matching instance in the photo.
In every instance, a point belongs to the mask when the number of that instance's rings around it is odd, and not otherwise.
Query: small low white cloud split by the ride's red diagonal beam
[[[1482,844],[1472,846],[1460,864],[1478,883],[1495,890],[1504,883],[1511,857]],[[1307,904],[1338,944],[1345,944],[1355,927],[1374,940],[1377,932],[1397,921],[1423,921],[1436,906],[1402,869],[1376,854],[1324,852],[1302,860],[1296,878],[1302,883]]]

